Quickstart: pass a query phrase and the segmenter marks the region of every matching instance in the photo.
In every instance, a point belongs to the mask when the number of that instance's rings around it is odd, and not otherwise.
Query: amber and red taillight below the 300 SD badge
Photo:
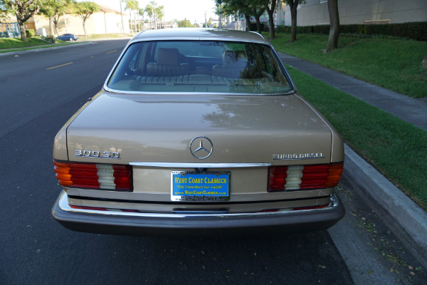
[[[53,161],[59,184],[65,187],[132,190],[130,165]]]

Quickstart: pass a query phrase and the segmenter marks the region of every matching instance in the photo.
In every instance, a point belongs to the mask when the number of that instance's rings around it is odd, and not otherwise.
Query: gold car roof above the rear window
[[[265,36],[255,32],[221,30],[216,28],[162,28],[145,30],[138,33],[130,43],[135,41],[244,41],[270,45]]]

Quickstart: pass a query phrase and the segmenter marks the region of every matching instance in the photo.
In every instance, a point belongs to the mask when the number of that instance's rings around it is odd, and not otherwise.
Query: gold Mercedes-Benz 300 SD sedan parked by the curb
[[[344,216],[343,160],[265,37],[143,31],[56,135],[52,213],[105,234],[326,229]]]

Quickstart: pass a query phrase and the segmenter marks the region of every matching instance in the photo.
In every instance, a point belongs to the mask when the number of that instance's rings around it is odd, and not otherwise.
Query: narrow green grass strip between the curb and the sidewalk
[[[427,210],[427,132],[295,68],[288,71],[347,145]]]

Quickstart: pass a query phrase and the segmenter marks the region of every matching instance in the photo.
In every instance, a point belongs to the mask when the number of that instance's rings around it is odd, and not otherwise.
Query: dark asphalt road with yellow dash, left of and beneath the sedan
[[[126,42],[0,57],[0,284],[354,284],[327,231],[122,237],[72,232],[51,217],[53,138],[101,89]],[[336,227],[334,236],[348,230]]]

